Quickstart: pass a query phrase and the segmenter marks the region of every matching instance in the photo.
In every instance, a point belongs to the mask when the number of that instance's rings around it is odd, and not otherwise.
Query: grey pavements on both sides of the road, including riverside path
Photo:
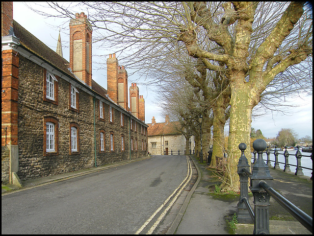
[[[253,234],[253,224],[236,223],[234,226],[231,226],[229,223],[232,222],[232,218],[237,211],[236,205],[239,201],[239,195],[215,194],[215,186],[219,185],[221,181],[214,175],[214,170],[206,163],[200,163],[194,155],[190,157],[198,172],[197,180],[191,185],[193,187],[185,191],[188,193],[184,196],[182,203],[180,203],[180,209],[176,212],[176,215],[172,216],[172,225],[167,227],[167,230],[163,231],[162,234]],[[3,195],[11,191],[21,191],[27,188],[48,185],[56,181],[75,178],[102,169],[125,165],[147,158],[150,158],[150,156],[26,180],[22,181],[23,188],[13,185],[2,185],[1,192]],[[270,175],[274,177],[273,189],[286,197],[302,211],[313,217],[313,184],[310,177],[295,176],[293,172],[284,172],[282,169],[274,169],[272,167],[269,169]],[[249,202],[254,209],[252,194],[249,195]],[[312,235],[309,230],[272,198],[270,199],[270,204],[270,234]]]

